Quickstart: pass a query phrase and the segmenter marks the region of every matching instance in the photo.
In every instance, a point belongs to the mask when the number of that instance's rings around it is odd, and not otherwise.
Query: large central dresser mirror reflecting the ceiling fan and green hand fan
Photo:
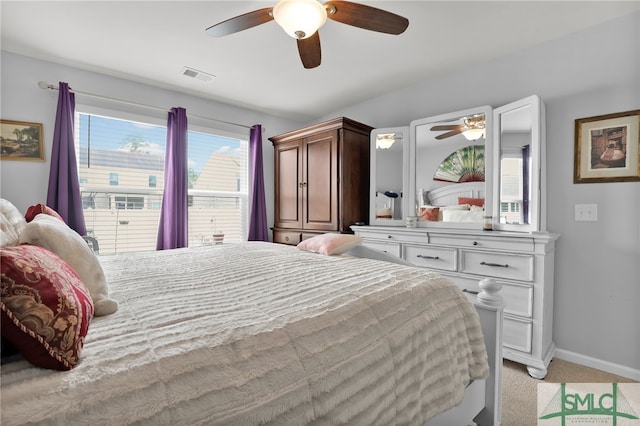
[[[491,216],[492,120],[481,106],[411,123],[408,203],[418,226],[481,229]]]

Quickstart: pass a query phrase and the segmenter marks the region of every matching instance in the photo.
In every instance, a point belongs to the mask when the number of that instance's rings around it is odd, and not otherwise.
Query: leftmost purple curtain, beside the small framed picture
[[[80,235],[86,235],[73,139],[76,100],[75,95],[69,90],[69,84],[59,84],[47,205],[57,211],[71,229]]]

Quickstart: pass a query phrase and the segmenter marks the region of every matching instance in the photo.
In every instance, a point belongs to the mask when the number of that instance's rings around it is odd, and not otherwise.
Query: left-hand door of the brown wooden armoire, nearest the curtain
[[[302,228],[302,140],[275,147],[274,224],[277,228]]]

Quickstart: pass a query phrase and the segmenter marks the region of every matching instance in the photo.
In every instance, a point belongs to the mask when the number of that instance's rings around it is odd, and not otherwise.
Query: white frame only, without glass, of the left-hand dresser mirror
[[[402,196],[401,196],[401,209],[402,209],[402,218],[400,219],[376,219],[376,178],[378,172],[377,166],[377,150],[376,150],[376,136],[378,134],[383,133],[399,133],[402,132],[402,162],[400,164],[401,173],[402,173]],[[380,226],[404,226],[405,218],[407,217],[407,212],[409,203],[407,200],[408,188],[409,188],[409,171],[405,166],[409,161],[409,145],[411,141],[409,126],[400,126],[400,127],[386,127],[374,129],[371,131],[370,138],[370,189],[369,189],[369,224],[371,225],[380,225]]]

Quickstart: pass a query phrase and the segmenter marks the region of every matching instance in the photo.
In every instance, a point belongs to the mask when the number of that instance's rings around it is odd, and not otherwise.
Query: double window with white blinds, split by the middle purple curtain
[[[117,116],[76,113],[85,222],[101,255],[155,250],[164,188],[166,127]],[[188,133],[189,246],[214,244],[214,234],[244,241],[248,142],[197,130]]]

